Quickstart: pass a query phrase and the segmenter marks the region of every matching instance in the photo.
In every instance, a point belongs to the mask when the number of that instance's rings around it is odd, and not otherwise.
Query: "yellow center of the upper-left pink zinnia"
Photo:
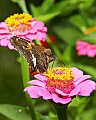
[[[8,25],[9,30],[24,32],[26,29],[29,30],[31,27],[30,21],[32,20],[32,16],[23,13],[23,14],[14,14],[8,17],[5,22]]]

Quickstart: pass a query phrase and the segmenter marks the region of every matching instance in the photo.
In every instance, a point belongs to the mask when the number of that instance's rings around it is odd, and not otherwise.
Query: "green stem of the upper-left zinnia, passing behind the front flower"
[[[25,88],[28,86],[27,82],[30,80],[29,72],[28,72],[28,63],[26,62],[26,59],[23,56],[20,56],[20,57],[21,57],[21,69],[22,69],[23,85]],[[36,115],[35,115],[32,100],[30,99],[30,97],[27,93],[25,93],[25,96],[26,96],[26,102],[27,102],[27,105],[29,107],[29,111],[30,111],[32,120],[36,120]]]

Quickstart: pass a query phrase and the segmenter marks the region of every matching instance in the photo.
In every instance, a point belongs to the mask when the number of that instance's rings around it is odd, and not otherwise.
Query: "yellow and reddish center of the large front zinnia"
[[[47,78],[46,89],[51,93],[54,93],[56,89],[69,93],[74,88],[75,75],[67,67],[48,69],[44,75]]]

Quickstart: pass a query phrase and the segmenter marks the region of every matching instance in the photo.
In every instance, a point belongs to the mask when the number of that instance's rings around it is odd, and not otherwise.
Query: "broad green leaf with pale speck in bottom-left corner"
[[[28,110],[22,106],[0,104],[0,113],[11,120],[32,120]]]

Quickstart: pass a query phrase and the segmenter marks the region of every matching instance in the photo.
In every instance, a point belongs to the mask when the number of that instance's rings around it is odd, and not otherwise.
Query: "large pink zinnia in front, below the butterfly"
[[[48,69],[45,74],[34,76],[37,80],[28,82],[32,84],[24,89],[31,98],[43,97],[52,99],[55,103],[67,104],[75,95],[90,96],[95,90],[95,82],[86,80],[90,75],[83,75],[83,72],[75,67],[58,67]]]

